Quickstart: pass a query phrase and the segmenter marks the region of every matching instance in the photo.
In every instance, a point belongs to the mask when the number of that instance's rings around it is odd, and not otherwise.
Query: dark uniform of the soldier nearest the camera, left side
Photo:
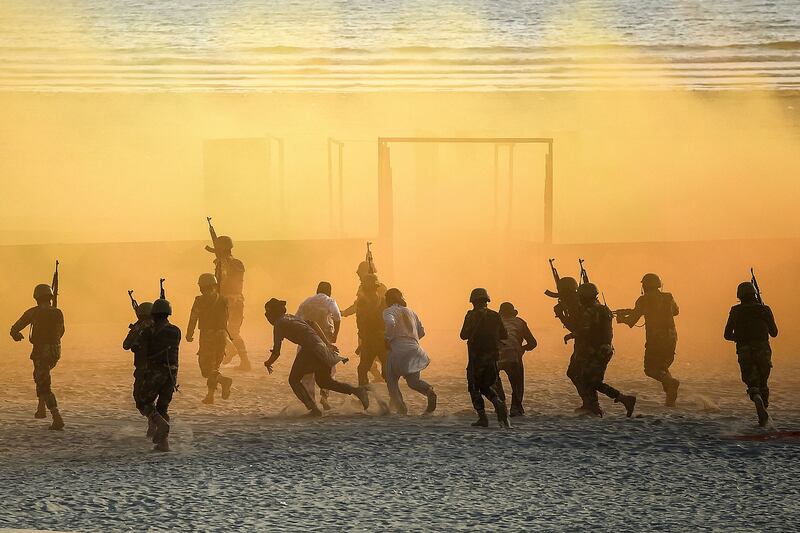
[[[136,407],[144,416],[157,411],[169,420],[169,404],[178,379],[178,350],[181,330],[167,321],[145,328],[137,343],[144,354],[144,371]]]

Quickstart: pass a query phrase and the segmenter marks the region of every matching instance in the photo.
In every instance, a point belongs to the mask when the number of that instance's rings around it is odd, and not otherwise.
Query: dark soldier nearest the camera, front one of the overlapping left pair
[[[144,354],[139,411],[153,425],[153,443],[161,452],[169,451],[169,404],[178,389],[178,350],[181,330],[169,322],[172,306],[159,298],[150,311],[153,323],[142,331],[134,350]]]

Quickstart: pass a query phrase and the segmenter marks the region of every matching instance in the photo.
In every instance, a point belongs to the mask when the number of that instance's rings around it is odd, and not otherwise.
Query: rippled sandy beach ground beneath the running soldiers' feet
[[[32,417],[25,348],[0,361],[0,527],[785,531],[800,518],[800,441],[729,438],[761,431],[732,351],[704,364],[679,356],[675,409],[661,405],[639,356],[620,353],[608,381],[639,395],[632,419],[608,400],[603,419],[574,416],[566,348],[533,352],[527,416],[502,430],[494,420],[489,429],[469,426],[456,345],[432,350],[439,355],[425,377],[440,397],[433,416],[420,416],[423,399],[404,388],[409,416],[363,413],[334,395],[334,409],[319,420],[303,418],[291,395],[291,350],[272,376],[261,357],[252,373],[231,371],[232,398],[206,406],[185,349],[173,451],[160,454],[133,407],[130,357],[109,351],[113,340],[65,353],[53,372],[63,432]],[[264,342],[252,344],[264,353]],[[772,414],[777,427],[800,429],[798,368],[786,355],[776,354]],[[343,380],[355,381],[354,362],[342,368]],[[385,396],[384,386],[375,389]]]

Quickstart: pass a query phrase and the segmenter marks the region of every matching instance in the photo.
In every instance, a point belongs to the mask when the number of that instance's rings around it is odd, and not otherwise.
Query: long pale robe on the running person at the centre
[[[431,360],[419,345],[419,340],[425,336],[425,328],[417,314],[408,307],[394,304],[383,312],[383,321],[389,342],[387,379],[399,379],[427,368]]]

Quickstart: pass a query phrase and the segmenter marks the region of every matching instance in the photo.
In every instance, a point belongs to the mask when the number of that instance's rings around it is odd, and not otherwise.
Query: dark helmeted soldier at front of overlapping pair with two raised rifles
[[[606,368],[614,355],[614,331],[611,310],[597,300],[597,287],[594,283],[584,283],[578,287],[580,316],[575,330],[575,359],[581,369],[583,404],[589,414],[603,416],[597,393],[601,392],[621,403],[627,416],[633,415],[636,396],[628,396],[605,383]]]

